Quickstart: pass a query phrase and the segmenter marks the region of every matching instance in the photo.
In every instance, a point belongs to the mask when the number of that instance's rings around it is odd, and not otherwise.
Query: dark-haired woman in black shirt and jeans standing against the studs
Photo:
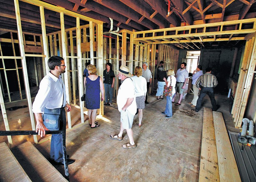
[[[113,88],[115,83],[115,73],[112,70],[112,64],[107,63],[106,68],[103,71],[103,83],[105,88],[105,104],[104,105],[111,105],[112,103],[112,96],[113,96]]]

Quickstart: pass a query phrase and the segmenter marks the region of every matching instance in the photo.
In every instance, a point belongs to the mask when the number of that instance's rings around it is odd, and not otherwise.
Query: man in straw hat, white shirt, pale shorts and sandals
[[[130,142],[123,145],[123,148],[135,148],[136,145],[133,141],[132,123],[133,117],[136,113],[137,106],[135,100],[135,90],[132,82],[132,74],[129,73],[129,67],[121,66],[118,72],[118,78],[121,80],[121,85],[119,87],[116,103],[118,110],[121,113],[121,126],[120,132],[117,135],[110,135],[110,138],[122,140],[122,135],[124,130],[126,130]]]

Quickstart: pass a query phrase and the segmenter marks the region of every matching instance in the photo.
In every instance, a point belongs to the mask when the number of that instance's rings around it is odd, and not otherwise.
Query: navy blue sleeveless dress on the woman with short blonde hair
[[[100,108],[100,76],[92,81],[86,76],[85,107],[87,109]]]

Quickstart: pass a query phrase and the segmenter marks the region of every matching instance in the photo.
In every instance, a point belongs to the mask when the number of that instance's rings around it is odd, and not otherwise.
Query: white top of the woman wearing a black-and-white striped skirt
[[[135,88],[135,96],[145,96],[147,93],[147,81],[143,76],[132,76],[132,81]]]

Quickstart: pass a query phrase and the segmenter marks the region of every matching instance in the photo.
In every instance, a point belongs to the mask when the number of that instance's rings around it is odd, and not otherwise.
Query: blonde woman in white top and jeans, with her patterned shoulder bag
[[[175,94],[175,85],[176,85],[176,78],[173,69],[169,69],[167,72],[167,80],[163,78],[165,81],[164,86],[164,95],[166,95],[166,107],[165,111],[162,114],[166,115],[166,118],[172,117],[172,97]]]

